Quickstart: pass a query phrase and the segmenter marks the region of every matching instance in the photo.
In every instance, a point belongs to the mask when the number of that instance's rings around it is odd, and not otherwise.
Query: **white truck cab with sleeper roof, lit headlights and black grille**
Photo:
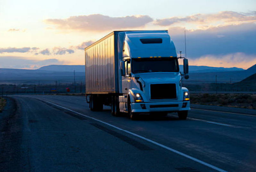
[[[121,32],[120,112],[165,116],[178,112],[186,119],[190,110],[189,92],[182,87],[176,48],[167,31]],[[185,74],[187,59],[184,59]],[[187,77],[187,76],[186,76]]]

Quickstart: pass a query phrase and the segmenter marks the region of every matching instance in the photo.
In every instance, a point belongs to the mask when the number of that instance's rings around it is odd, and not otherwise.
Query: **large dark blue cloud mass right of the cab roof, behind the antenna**
[[[170,27],[168,30],[177,52],[185,53],[184,30],[184,27]],[[237,52],[256,55],[255,30],[255,23],[186,30],[187,57],[196,59],[208,54],[218,57]]]

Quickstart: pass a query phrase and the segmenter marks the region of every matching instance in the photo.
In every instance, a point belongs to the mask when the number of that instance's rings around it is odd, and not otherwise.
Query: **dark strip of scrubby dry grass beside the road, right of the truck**
[[[256,109],[256,94],[190,94],[193,104]]]

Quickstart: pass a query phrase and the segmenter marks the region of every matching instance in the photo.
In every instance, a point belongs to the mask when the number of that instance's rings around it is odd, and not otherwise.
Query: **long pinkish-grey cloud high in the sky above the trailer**
[[[46,23],[60,30],[108,31],[122,28],[144,27],[153,19],[147,15],[110,17],[102,14],[71,16],[67,19],[47,19]]]

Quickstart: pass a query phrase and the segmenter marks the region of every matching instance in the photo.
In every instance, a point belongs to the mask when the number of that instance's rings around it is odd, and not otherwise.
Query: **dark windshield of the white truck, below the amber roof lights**
[[[177,58],[140,58],[132,59],[132,73],[178,72]]]

